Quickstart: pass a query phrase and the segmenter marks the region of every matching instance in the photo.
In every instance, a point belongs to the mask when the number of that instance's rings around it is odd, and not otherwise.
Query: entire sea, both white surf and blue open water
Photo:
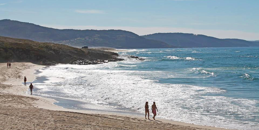
[[[44,67],[34,94],[73,109],[144,114],[232,129],[259,129],[259,48],[128,49],[98,65]],[[151,114],[151,116],[153,116]]]

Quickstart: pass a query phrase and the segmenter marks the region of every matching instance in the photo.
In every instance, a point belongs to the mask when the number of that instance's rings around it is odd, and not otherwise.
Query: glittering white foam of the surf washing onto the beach
[[[158,117],[175,121],[233,129],[256,130],[258,126],[258,123],[250,120],[244,123],[236,119],[236,115],[245,119],[259,116],[259,108],[256,106],[259,102],[256,100],[213,96],[226,92],[214,87],[161,84],[147,77],[163,75],[162,72],[116,70],[119,66],[122,64],[118,62],[51,66],[39,75],[65,80],[35,87],[40,88],[40,94],[47,95],[53,91],[48,96],[65,96],[63,98],[103,106],[113,104],[115,108],[126,107],[140,113],[144,113],[146,101],[149,101],[149,105],[155,101]],[[214,74],[202,68],[193,68],[191,71]]]

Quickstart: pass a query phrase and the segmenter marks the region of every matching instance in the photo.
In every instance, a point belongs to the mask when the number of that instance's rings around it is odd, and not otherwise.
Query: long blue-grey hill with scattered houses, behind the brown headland
[[[172,48],[165,42],[140,37],[123,30],[74,30],[42,27],[15,20],[0,20],[0,36],[54,42],[74,47]]]

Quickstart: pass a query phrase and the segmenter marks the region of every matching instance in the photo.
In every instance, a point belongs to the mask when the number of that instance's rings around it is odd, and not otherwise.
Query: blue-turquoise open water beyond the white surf
[[[145,57],[126,70],[162,71],[159,83],[217,87],[218,96],[259,100],[259,48],[146,49],[122,55]],[[169,76],[172,75],[172,76]]]

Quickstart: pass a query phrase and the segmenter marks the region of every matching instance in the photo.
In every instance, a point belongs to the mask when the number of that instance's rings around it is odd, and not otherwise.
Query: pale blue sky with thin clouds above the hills
[[[120,29],[259,40],[259,0],[0,0],[0,19],[58,29]]]

